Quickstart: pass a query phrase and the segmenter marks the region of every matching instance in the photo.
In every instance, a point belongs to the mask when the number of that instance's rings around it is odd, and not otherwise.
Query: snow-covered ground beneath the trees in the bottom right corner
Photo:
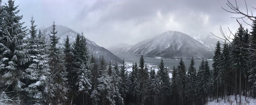
[[[211,101],[211,102],[207,102],[206,105],[239,105],[239,96],[237,96],[237,104],[236,104],[236,100],[235,100],[235,96],[230,96],[229,99],[226,98],[226,103],[224,102],[224,99],[221,100],[221,98],[219,98],[219,102],[217,103],[217,100]],[[229,100],[229,101],[228,101]],[[245,101],[245,97],[242,96],[241,97],[241,105],[256,105],[256,99],[247,97],[246,101]]]

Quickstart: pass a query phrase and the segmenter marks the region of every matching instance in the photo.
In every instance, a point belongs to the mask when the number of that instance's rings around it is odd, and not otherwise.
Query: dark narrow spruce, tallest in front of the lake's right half
[[[195,105],[196,102],[196,91],[197,91],[197,77],[196,77],[196,68],[194,67],[195,60],[192,57],[190,60],[190,65],[188,67],[188,97],[189,104]]]

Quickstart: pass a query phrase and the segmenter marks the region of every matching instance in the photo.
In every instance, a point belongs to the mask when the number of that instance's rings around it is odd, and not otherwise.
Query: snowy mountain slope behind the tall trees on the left
[[[75,32],[74,30],[65,27],[65,26],[61,26],[61,25],[57,25],[56,27],[56,31],[57,32],[57,36],[60,38],[59,39],[59,46],[63,46],[64,45],[64,39],[68,36],[70,42],[75,41],[76,35],[79,34],[78,32]],[[49,34],[50,35],[50,31],[52,30],[52,26],[46,28],[46,35]],[[112,61],[112,62],[122,62],[122,60],[120,58],[118,58],[116,55],[114,55],[112,52],[108,51],[107,49],[98,46],[95,42],[86,39],[87,42],[87,47],[89,48],[89,51],[91,54],[94,55],[94,57],[99,58],[104,56],[106,61]]]

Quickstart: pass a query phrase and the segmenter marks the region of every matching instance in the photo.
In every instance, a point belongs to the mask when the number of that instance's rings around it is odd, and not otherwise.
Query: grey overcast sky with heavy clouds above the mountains
[[[245,11],[244,0],[237,1]],[[248,9],[255,11],[251,7],[256,6],[256,0],[246,2]],[[227,27],[236,31],[238,23],[230,18],[236,15],[221,8],[229,9],[226,3],[226,0],[15,0],[26,26],[30,25],[31,15],[38,26],[49,27],[55,20],[57,25],[84,32],[86,38],[103,47],[136,44],[168,30],[188,35],[210,32],[220,35],[221,25],[226,33]]]

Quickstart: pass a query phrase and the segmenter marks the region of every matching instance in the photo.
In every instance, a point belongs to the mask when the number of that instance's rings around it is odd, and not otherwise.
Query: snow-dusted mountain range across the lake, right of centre
[[[118,44],[108,50],[114,54],[145,55],[152,58],[212,58],[218,39],[211,36],[193,37],[178,31],[166,31],[135,45]]]

